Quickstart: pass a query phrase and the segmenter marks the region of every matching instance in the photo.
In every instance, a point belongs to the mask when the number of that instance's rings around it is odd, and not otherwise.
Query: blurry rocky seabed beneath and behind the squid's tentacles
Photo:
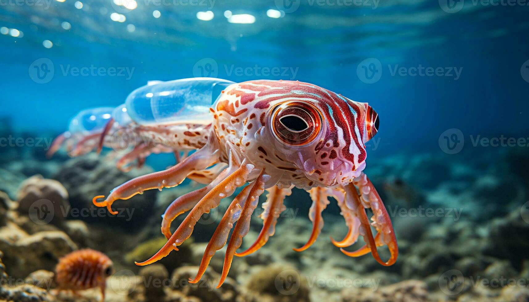
[[[13,135],[5,123],[1,131],[2,137]],[[119,200],[115,207],[122,213],[112,217],[106,209],[96,211],[92,197],[151,168],[125,174],[108,154],[72,159],[59,154],[48,160],[43,148],[2,147],[0,300],[99,300],[97,289],[80,291],[80,296],[53,290],[58,259],[88,247],[114,262],[106,301],[529,301],[526,155],[517,148],[474,148],[458,155],[402,153],[369,161],[366,172],[388,208],[399,243],[398,261],[387,268],[370,255],[346,257],[332,245],[330,236],[339,240],[346,233],[333,200],[316,243],[304,252],[293,251],[312,228],[309,196],[294,190],[268,243],[247,257],[235,257],[229,278],[216,289],[224,249],[198,285],[187,279],[194,277],[228,200],[201,219],[179,251],[138,267],[134,261],[148,259],[165,243],[160,215],[196,184]],[[53,202],[49,223],[29,216],[41,199]],[[260,231],[262,219],[256,214],[242,248]]]

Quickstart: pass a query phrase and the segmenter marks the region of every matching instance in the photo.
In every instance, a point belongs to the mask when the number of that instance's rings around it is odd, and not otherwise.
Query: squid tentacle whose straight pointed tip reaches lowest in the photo
[[[263,175],[263,172],[264,170],[261,171],[261,175],[254,182],[249,197],[242,208],[240,218],[233,228],[233,233],[226,248],[226,254],[224,255],[224,265],[222,267],[221,279],[218,281],[217,288],[220,288],[222,283],[224,283],[224,280],[226,280],[228,272],[231,268],[233,256],[235,255],[237,249],[240,248],[242,244],[242,238],[250,231],[250,220],[252,218],[253,211],[257,208],[259,196],[261,196],[261,194],[264,192],[265,183],[271,178],[269,175]]]

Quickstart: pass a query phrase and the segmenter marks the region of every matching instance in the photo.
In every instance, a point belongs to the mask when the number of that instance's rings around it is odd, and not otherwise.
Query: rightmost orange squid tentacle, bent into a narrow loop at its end
[[[398,246],[397,239],[395,237],[395,231],[393,230],[393,225],[391,225],[391,220],[389,219],[386,208],[382,203],[377,190],[371,183],[371,180],[369,180],[369,178],[364,173],[355,178],[353,180],[353,184],[359,188],[361,194],[360,196],[358,196],[354,186],[349,185],[343,188],[345,190],[346,198],[351,198],[352,202],[357,205],[357,215],[361,222],[359,230],[360,234],[364,237],[364,241],[366,241],[366,246],[363,246],[354,252],[345,251],[343,248],[340,250],[344,254],[351,257],[358,257],[360,255],[366,254],[367,251],[370,250],[373,258],[375,258],[378,263],[382,264],[383,266],[391,266],[397,261]],[[366,208],[371,208],[371,211],[373,212],[371,220],[373,221],[372,225],[378,232],[376,239],[373,238],[373,234],[371,232],[371,224],[369,223],[369,219],[366,214]],[[377,246],[384,244],[388,246],[389,252],[391,254],[389,260],[386,262],[380,259],[380,255],[377,251]]]

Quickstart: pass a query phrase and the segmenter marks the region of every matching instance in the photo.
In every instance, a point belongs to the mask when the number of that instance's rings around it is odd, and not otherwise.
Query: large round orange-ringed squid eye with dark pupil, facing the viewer
[[[290,145],[312,142],[320,132],[321,115],[317,109],[303,102],[278,105],[272,113],[272,130],[276,138]]]

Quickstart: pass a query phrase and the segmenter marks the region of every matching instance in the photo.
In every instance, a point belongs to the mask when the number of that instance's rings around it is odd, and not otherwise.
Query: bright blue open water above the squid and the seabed
[[[452,128],[523,136],[529,7],[444,1],[142,0],[130,11],[118,0],[4,0],[2,115],[18,130],[60,132],[148,80],[294,79],[369,102],[381,120],[371,153],[439,151]],[[240,14],[254,22],[226,17]]]

